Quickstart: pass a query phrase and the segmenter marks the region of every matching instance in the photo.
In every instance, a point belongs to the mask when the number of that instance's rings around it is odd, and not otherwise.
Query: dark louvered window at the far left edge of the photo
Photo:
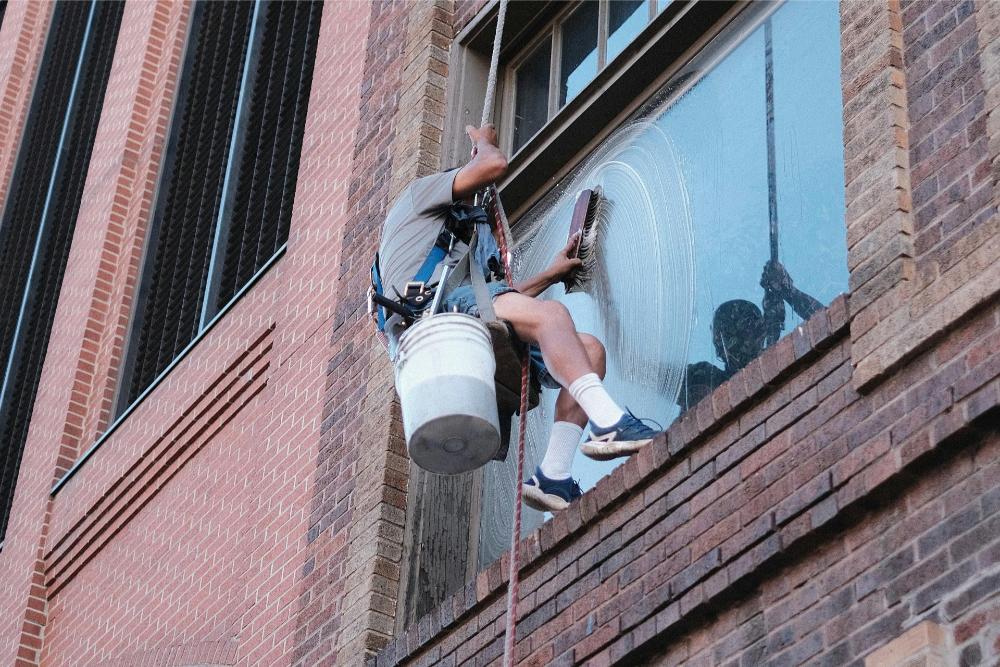
[[[0,536],[28,434],[123,2],[56,5],[0,223]]]

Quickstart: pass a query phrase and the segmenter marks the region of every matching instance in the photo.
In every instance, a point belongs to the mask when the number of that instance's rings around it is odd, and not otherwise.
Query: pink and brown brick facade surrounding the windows
[[[507,556],[397,630],[419,545],[364,304],[484,6],[326,3],[287,251],[52,496],[109,425],[190,14],[127,4],[0,549],[0,662],[499,661]],[[0,31],[0,188],[39,8]],[[935,655],[1000,659],[1000,13],[841,18],[852,293],[522,541],[523,664],[860,665],[925,624]]]

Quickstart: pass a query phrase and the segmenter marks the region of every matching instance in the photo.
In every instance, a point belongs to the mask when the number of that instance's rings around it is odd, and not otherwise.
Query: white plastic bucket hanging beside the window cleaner
[[[485,464],[500,448],[489,331],[477,318],[442,313],[399,339],[396,391],[410,459],[455,475]]]

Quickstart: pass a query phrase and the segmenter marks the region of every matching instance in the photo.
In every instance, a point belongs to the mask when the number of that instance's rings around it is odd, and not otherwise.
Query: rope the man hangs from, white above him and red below
[[[507,17],[507,0],[500,0],[497,11],[497,29],[493,35],[493,54],[490,57],[490,73],[486,79],[486,99],[483,101],[483,118],[480,127],[493,119],[493,101],[496,97],[497,73],[500,64],[500,42],[503,37],[504,19]],[[510,226],[507,215],[500,203],[500,196],[495,185],[490,186],[490,199],[493,202],[493,219],[499,230],[500,254],[507,279],[513,284],[514,273],[510,268]],[[507,576],[507,628],[504,636],[503,664],[511,667],[514,664],[514,636],[517,629],[517,599],[520,591],[521,557],[518,542],[521,538],[521,486],[524,483],[524,439],[528,426],[528,382],[530,367],[528,355],[521,362],[521,407],[520,421],[517,429],[517,465],[514,474],[514,526],[510,536],[510,570]]]

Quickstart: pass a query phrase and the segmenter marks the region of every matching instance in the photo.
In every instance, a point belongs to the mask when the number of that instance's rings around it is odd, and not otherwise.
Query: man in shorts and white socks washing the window
[[[497,148],[492,125],[466,127],[472,139],[472,159],[462,168],[419,178],[399,194],[386,217],[379,248],[379,264],[387,296],[403,296],[407,281],[420,270],[448,219],[455,203],[470,200],[478,191],[496,182],[507,171],[507,158]],[[567,221],[568,222],[568,221]],[[590,424],[590,440],[583,445],[588,456],[609,460],[629,456],[648,444],[656,432],[631,413],[618,406],[601,380],[605,373],[604,346],[589,334],[579,333],[569,311],[556,301],[536,299],[549,286],[577,269],[581,262],[569,255],[571,241],[547,269],[511,286],[497,275],[500,262],[493,237],[480,238],[481,248],[492,255],[483,262],[494,270],[487,278],[497,318],[508,321],[522,340],[537,347],[538,367],[546,386],[561,387],[556,400],[545,457],[524,484],[525,504],[539,510],[558,511],[581,495],[579,485],[570,477],[570,467],[583,428]],[[443,266],[456,262],[467,248],[454,243],[429,284],[436,283]],[[463,284],[445,295],[444,309],[478,315],[470,284]],[[398,315],[387,322],[390,351],[402,332]]]

